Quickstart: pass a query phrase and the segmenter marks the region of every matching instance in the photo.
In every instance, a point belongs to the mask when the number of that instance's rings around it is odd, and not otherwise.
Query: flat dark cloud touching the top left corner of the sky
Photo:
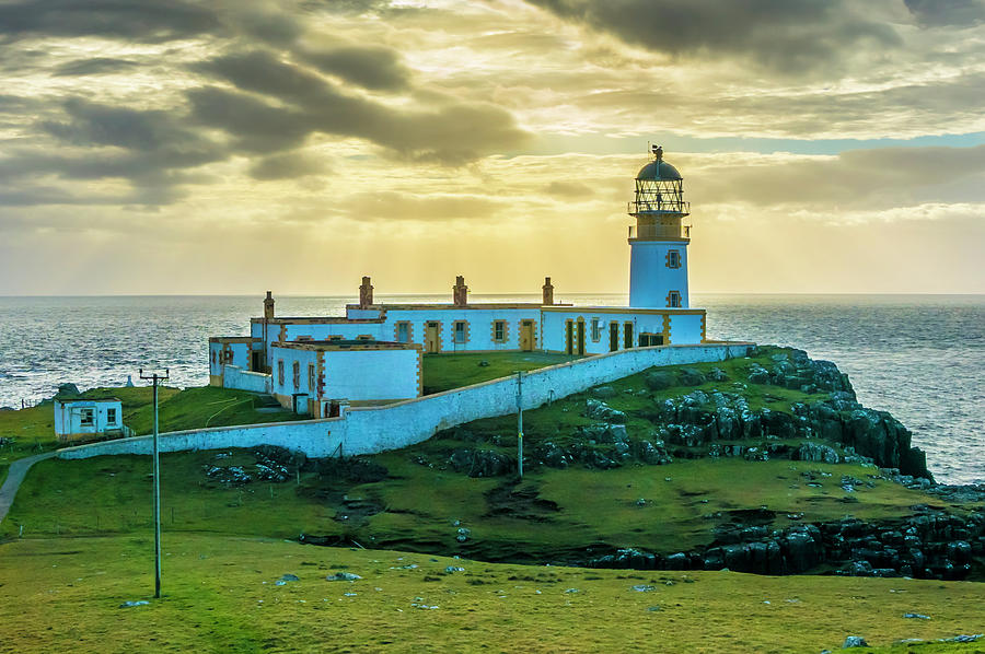
[[[204,5],[183,0],[22,0],[0,5],[0,34],[106,36],[146,43],[216,31],[220,21]]]

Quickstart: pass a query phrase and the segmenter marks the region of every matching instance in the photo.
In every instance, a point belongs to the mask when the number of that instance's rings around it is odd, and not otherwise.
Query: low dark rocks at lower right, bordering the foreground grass
[[[716,528],[708,547],[654,554],[621,549],[590,559],[592,568],[729,570],[796,574],[825,568],[853,576],[961,580],[985,556],[985,514],[966,518],[918,509],[918,515],[869,524],[856,518],[795,525],[776,532],[732,523]]]

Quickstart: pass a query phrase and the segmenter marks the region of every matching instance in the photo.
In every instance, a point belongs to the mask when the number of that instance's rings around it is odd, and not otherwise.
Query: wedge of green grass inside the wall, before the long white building
[[[575,361],[579,357],[544,352],[483,352],[477,354],[425,354],[421,363],[425,394],[451,390],[498,379],[517,371],[536,370]],[[489,365],[479,365],[480,361]]]

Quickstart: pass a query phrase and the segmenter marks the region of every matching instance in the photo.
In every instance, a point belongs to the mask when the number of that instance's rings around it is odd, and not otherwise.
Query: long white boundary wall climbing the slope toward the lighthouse
[[[531,371],[523,377],[523,408],[580,393],[654,365],[723,361],[745,357],[752,343],[703,343],[619,350]],[[517,410],[517,377],[503,377],[382,407],[348,409],[340,418],[171,432],[161,452],[279,445],[310,457],[374,454],[426,441],[436,432]],[[59,449],[59,458],[150,454],[151,436]]]

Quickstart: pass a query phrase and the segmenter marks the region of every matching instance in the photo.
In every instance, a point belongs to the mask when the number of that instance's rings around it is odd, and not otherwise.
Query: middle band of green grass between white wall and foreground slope
[[[227,452],[232,456],[217,458]],[[305,533],[373,547],[532,561],[577,558],[598,544],[664,553],[686,550],[709,544],[714,527],[728,523],[729,512],[738,509],[765,505],[777,513],[774,526],[783,528],[792,524],[788,513],[802,512],[804,523],[847,514],[897,518],[911,515],[912,505],[939,503],[935,497],[882,480],[873,480],[871,489],[859,487],[854,493],[857,503],[842,503],[841,476],[867,479],[872,472],[854,465],[694,459],[607,471],[545,468],[528,472],[513,489],[507,478],[473,479],[420,465],[414,460],[420,451],[415,452],[374,457],[389,476],[371,483],[347,483],[306,471],[300,475],[300,486],[292,479],[241,488],[218,484],[204,468],[248,465],[255,459],[247,451],[165,454],[164,524],[178,532],[271,538]],[[806,486],[802,474],[808,471],[814,472],[820,488]],[[149,474],[149,458],[139,456],[40,462],[0,524],[0,537],[18,535],[21,526],[31,537],[140,533],[151,521]],[[740,477],[744,482],[734,483]],[[345,497],[368,501],[381,511],[362,517],[348,507]],[[642,507],[636,505],[640,498],[646,500]],[[721,516],[706,517],[716,512]],[[350,519],[336,519],[348,514]],[[467,542],[455,540],[454,521],[472,529]]]

